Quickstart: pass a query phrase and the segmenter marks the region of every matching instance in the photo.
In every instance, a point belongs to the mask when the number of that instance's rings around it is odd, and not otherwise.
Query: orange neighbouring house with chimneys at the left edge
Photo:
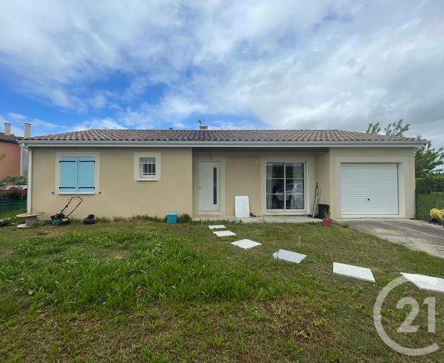
[[[25,123],[24,134],[31,136],[31,125]],[[5,132],[0,132],[0,179],[28,171],[28,150],[17,143],[15,134],[11,134],[10,123],[5,123]]]

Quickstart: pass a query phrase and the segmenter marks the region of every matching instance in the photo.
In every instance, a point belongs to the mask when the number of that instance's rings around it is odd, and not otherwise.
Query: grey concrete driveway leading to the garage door
[[[444,258],[444,227],[421,220],[355,219],[338,220],[350,228],[399,243],[409,249]]]

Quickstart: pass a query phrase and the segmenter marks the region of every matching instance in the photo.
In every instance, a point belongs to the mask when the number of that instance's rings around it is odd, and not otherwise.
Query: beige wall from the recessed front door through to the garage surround
[[[313,209],[314,188],[318,182],[319,203],[330,204],[332,217],[341,218],[341,162],[394,162],[399,172],[400,216],[413,218],[415,191],[414,148],[330,148],[330,152],[195,152],[194,153],[194,215],[198,215],[199,160],[221,161],[222,217],[234,215],[234,195],[250,197],[250,211],[264,215],[266,161],[302,161],[307,163],[307,211]],[[288,212],[292,213],[292,212]],[[296,213],[296,212],[293,212]]]

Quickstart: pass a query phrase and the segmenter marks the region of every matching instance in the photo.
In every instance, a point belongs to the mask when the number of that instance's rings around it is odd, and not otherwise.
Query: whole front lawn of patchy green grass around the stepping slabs
[[[413,361],[379,339],[373,305],[400,272],[443,277],[443,260],[339,225],[226,225],[238,236],[142,218],[0,229],[0,360]],[[230,245],[241,238],[262,246]],[[278,249],[308,257],[276,261]],[[370,267],[377,283],[334,275],[333,261]],[[429,294],[393,290],[383,307],[389,335],[444,346],[443,296],[432,294],[435,334],[422,309],[418,333],[400,335],[403,296],[422,303]]]

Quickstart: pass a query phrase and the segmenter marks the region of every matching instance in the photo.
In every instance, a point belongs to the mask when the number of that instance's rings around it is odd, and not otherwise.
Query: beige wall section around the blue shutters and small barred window
[[[65,206],[71,195],[56,191],[57,152],[99,152],[99,191],[80,195],[83,204],[75,212],[77,219],[92,213],[113,217],[151,215],[164,217],[167,211],[192,215],[192,151],[189,148],[33,148],[32,210],[45,217]],[[134,153],[160,152],[161,180],[135,182]]]

